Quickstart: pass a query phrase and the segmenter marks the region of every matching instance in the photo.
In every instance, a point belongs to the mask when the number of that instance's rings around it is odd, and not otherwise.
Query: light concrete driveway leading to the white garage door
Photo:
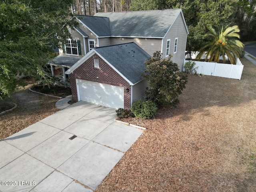
[[[0,140],[1,192],[92,192],[142,130],[77,102]]]

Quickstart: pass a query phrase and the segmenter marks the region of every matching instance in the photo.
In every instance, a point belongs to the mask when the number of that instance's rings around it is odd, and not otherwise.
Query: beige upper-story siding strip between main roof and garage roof
[[[111,45],[135,42],[144,51],[146,51],[150,56],[153,56],[154,52],[161,51],[162,39],[156,38],[119,38],[112,37]]]

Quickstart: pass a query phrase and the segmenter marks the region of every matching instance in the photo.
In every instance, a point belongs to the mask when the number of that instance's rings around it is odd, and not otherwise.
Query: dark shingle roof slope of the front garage
[[[94,49],[132,84],[142,80],[141,74],[146,69],[144,62],[151,57],[134,42]]]

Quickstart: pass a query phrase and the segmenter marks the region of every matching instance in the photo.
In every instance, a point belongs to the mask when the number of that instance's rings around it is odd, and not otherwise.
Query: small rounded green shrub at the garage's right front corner
[[[131,111],[136,118],[150,119],[156,114],[157,107],[152,101],[137,100],[132,104]]]

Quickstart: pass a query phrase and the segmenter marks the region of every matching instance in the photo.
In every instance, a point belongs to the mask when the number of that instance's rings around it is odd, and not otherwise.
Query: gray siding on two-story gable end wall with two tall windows
[[[170,39],[170,54],[172,55],[172,61],[177,63],[180,70],[183,69],[184,64],[184,56],[186,51],[186,42],[187,42],[187,32],[184,25],[184,22],[182,20],[181,14],[178,15],[176,20],[174,21],[174,24],[170,28],[170,30],[167,32],[166,36],[163,40],[163,57],[166,56],[166,43],[167,40]],[[177,44],[177,52],[174,53],[174,41],[175,38],[178,38],[178,44]]]

